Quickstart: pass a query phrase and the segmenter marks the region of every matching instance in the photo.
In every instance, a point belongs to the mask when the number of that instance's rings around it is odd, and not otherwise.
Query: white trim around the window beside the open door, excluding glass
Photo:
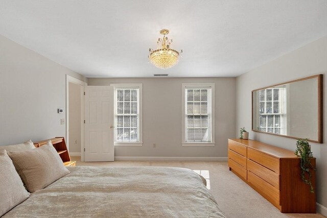
[[[139,90],[139,138],[137,142],[114,142],[114,146],[143,146],[143,125],[142,125],[142,120],[143,120],[143,84],[142,83],[110,83],[110,86],[113,86],[114,93],[116,88],[138,88]],[[114,94],[115,95],[115,94]],[[114,105],[115,105],[115,98],[114,96]],[[115,108],[114,108],[115,110]],[[113,114],[115,111],[113,111]],[[115,122],[115,121],[114,121]],[[114,136],[115,137],[115,136]],[[113,139],[114,140],[114,139]]]

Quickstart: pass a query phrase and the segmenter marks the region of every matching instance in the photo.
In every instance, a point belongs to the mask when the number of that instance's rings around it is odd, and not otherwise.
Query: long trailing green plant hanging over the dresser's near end
[[[301,179],[303,182],[310,185],[310,192],[314,193],[311,183],[312,175],[310,169],[315,171],[316,168],[311,164],[313,156],[308,140],[308,138],[300,138],[296,141],[295,155],[300,157]]]

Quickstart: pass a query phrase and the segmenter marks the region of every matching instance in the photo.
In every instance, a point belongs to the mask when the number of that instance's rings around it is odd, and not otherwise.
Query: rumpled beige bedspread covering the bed
[[[69,168],[4,217],[225,217],[205,180],[176,167]]]

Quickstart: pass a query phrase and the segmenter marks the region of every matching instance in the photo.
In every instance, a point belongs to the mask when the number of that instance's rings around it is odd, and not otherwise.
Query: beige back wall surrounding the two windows
[[[116,157],[227,157],[227,139],[235,135],[235,78],[88,79],[90,86],[110,83],[143,84],[143,146],[115,147]],[[215,83],[215,147],[182,147],[182,83]]]

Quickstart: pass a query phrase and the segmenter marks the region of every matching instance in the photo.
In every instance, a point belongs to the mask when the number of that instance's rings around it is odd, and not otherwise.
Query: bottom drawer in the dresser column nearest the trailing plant
[[[274,186],[270,185],[265,180],[251,173],[247,172],[247,181],[251,183],[256,189],[258,189],[259,193],[264,196],[267,200],[269,200],[274,205],[280,205],[279,201],[279,190]]]

